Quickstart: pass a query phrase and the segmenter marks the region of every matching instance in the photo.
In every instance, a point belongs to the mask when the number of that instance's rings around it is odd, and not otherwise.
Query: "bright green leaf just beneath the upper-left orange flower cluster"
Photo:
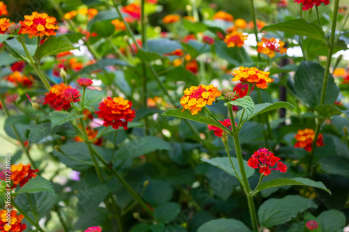
[[[42,58],[43,56],[51,56],[75,49],[80,49],[80,47],[74,47],[66,36],[51,36],[36,49],[35,56]]]

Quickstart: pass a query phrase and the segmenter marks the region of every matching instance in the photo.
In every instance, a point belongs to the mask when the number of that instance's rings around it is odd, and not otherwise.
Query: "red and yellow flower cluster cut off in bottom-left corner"
[[[0,231],[3,232],[22,232],[27,229],[26,224],[22,224],[23,215],[17,215],[16,210],[10,211],[10,226],[8,226],[8,210],[0,211]]]

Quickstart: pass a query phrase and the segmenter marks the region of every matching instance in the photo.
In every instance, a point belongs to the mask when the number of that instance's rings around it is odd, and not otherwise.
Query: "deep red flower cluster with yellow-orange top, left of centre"
[[[96,114],[98,114],[98,118],[103,118],[103,125],[106,127],[111,125],[114,129],[124,127],[127,130],[127,123],[132,122],[135,118],[135,111],[131,107],[132,102],[122,97],[107,97],[99,105],[99,111],[96,111]]]

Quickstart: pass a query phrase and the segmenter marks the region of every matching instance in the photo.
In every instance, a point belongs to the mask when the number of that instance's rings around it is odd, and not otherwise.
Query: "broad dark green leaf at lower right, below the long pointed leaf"
[[[262,226],[272,227],[290,221],[299,212],[317,207],[312,199],[288,195],[283,199],[269,199],[262,203],[258,209],[258,218]]]

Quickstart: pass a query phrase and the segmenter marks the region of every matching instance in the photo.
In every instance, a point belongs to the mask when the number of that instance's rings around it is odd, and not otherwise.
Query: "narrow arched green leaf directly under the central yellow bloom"
[[[196,121],[199,123],[205,123],[205,124],[209,124],[209,125],[214,125],[216,127],[220,127],[221,129],[223,129],[223,127],[217,123],[214,118],[202,115],[202,114],[195,114],[192,115],[191,111],[189,111],[188,109],[184,110],[183,112],[181,112],[182,109],[169,109],[168,111],[163,112],[163,114],[161,114],[161,116],[164,117],[176,117],[176,118],[184,118],[184,119],[189,119],[191,121]]]

